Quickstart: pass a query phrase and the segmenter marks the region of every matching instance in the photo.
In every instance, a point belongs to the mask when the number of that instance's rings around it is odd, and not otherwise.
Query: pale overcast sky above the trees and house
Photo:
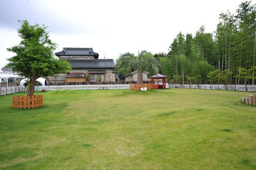
[[[112,1],[0,0],[0,67],[21,40],[18,20],[45,25],[50,39],[63,47],[92,47],[99,58],[148,50],[168,53],[179,32],[193,36],[204,25],[213,33],[220,13],[235,10],[241,0]],[[255,4],[255,0],[252,1]]]

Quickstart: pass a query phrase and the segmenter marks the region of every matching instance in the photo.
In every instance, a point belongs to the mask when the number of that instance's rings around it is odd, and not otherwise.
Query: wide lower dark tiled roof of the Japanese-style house
[[[113,59],[69,60],[72,68],[115,68]]]

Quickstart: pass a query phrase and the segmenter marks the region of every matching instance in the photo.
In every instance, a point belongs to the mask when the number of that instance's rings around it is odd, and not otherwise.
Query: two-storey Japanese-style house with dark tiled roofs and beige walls
[[[95,82],[100,78],[101,82],[115,81],[115,62],[113,59],[98,59],[98,53],[93,48],[63,48],[55,53],[61,59],[66,59],[72,67],[67,75],[59,75],[52,81],[85,82],[90,75],[90,81]]]

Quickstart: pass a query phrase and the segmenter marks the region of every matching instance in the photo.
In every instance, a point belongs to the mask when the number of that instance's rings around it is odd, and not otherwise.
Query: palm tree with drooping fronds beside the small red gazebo
[[[138,55],[135,56],[131,53],[121,54],[118,58],[118,63],[120,67],[127,67],[131,70],[137,70],[138,75],[138,84],[143,83],[143,71],[147,68],[151,68],[153,71],[158,73],[160,68],[160,63],[156,58],[153,57],[151,53],[148,53],[146,50],[138,51]]]

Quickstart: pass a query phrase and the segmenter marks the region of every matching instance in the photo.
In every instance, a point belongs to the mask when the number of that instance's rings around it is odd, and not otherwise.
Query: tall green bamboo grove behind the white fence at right
[[[255,16],[255,4],[246,1],[239,5],[236,15],[221,13],[214,33],[204,32],[204,26],[194,37],[180,32],[168,54],[155,54],[162,73],[179,82],[192,79],[255,84]]]

